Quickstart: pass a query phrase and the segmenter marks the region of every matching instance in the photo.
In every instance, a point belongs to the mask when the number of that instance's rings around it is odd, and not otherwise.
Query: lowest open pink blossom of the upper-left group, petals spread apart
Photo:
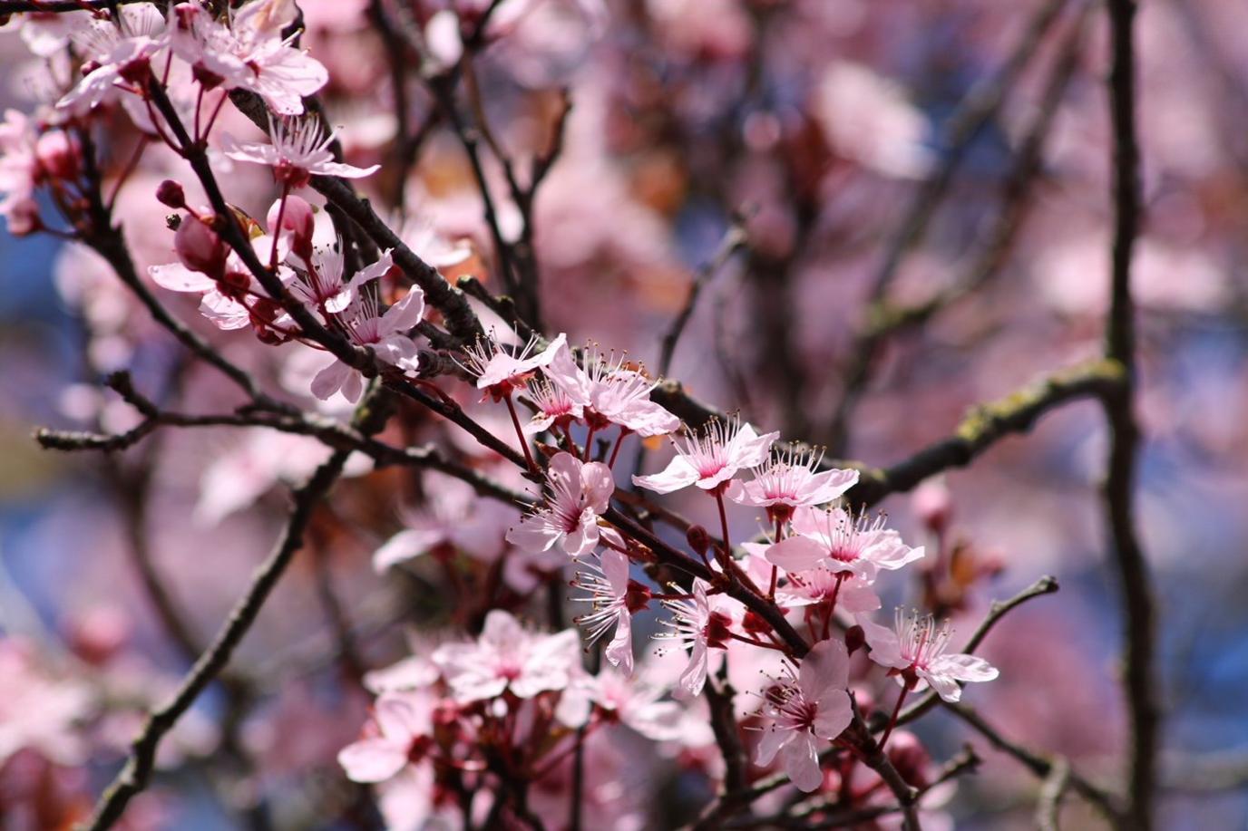
[[[386,312],[381,312],[372,294],[357,296],[351,306],[336,319],[356,346],[371,348],[377,357],[399,366],[416,357],[416,342],[407,331],[424,314],[424,292],[413,286],[407,294]],[[312,394],[326,401],[342,391],[347,401],[354,403],[363,394],[363,376],[339,358],[317,373],[312,379]]]

